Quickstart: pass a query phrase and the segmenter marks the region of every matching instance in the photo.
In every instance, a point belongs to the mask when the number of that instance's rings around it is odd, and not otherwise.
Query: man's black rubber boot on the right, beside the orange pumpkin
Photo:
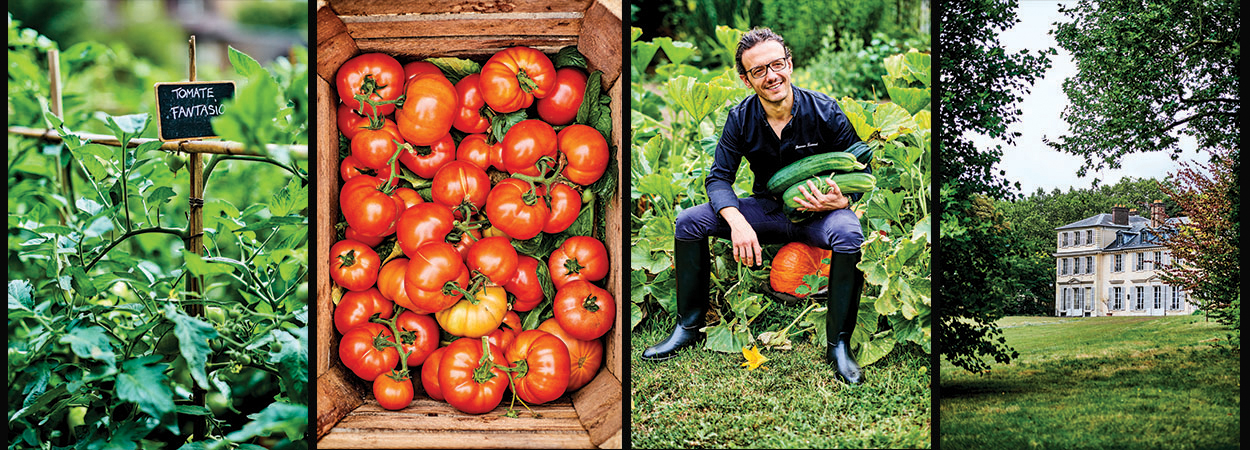
[[[846,384],[864,382],[855,356],[851,355],[851,334],[855,332],[859,298],[864,289],[864,272],[855,265],[860,252],[834,252],[829,260],[829,292],[826,294],[825,360],[838,370],[838,378]]]

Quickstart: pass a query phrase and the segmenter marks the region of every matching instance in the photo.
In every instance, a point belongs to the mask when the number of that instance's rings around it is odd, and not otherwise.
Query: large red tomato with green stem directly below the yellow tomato
[[[495,368],[508,365],[504,352],[481,339],[458,339],[439,361],[439,389],[451,406],[465,414],[485,414],[499,406],[509,378]],[[482,355],[489,355],[482,364]]]

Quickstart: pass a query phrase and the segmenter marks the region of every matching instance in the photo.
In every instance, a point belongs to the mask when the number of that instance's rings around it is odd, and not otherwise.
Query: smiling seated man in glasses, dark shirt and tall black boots
[[[728,238],[734,260],[762,262],[761,244],[804,241],[831,249],[826,314],[826,360],[849,384],[862,381],[850,354],[864,274],[856,269],[864,234],[859,218],[831,180],[829,192],[815,184],[800,189],[800,210],[814,218],[794,224],[781,201],[766,189],[781,168],[804,156],[848,151],[864,146],[838,102],[829,96],[790,85],[794,69],[790,49],[769,29],[754,29],[738,42],[738,72],[755,90],[729,112],[715,159],[706,178],[709,202],[678,215],[674,245],[676,265],[678,326],[668,340],[648,348],[644,360],[661,361],[702,339],[708,310],[710,255],[708,238]],[[755,172],[754,194],[739,199],[732,190],[742,158]],[[858,195],[854,195],[858,198]]]

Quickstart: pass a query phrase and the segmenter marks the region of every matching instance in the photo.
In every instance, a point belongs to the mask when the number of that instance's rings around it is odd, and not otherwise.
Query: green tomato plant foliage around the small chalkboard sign
[[[186,156],[126,145],[155,136],[152,102],[111,115],[66,90],[52,114],[56,42],[12,18],[9,36],[9,125],[62,138],[8,140],[9,448],[305,448],[308,162],[289,145],[306,142],[306,52],[265,69],[230,50],[242,80],[214,125],[252,155],[204,156],[196,254]],[[65,49],[61,86],[154,99],[150,65],[119,50]]]

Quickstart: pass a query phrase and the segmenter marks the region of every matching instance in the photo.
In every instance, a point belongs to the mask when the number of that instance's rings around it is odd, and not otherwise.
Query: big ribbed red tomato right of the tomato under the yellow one
[[[504,356],[511,366],[521,369],[512,384],[516,396],[526,402],[545,404],[569,388],[569,348],[550,332],[521,331]]]

